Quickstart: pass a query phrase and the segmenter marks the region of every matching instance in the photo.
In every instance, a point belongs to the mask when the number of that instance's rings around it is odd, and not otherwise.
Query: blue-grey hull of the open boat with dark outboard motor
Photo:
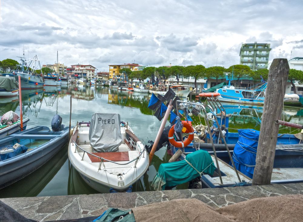
[[[35,129],[38,127],[34,127]],[[45,127],[49,129],[48,127]],[[66,129],[67,128],[67,129]],[[47,143],[21,155],[0,162],[0,189],[17,182],[31,174],[51,159],[68,142],[68,127],[61,137],[55,137]],[[32,130],[29,129],[29,130]],[[26,134],[28,130],[17,134]],[[17,135],[17,134],[13,134]],[[40,135],[39,135],[40,136]],[[41,137],[43,138],[43,137]],[[3,139],[5,140],[5,138]]]

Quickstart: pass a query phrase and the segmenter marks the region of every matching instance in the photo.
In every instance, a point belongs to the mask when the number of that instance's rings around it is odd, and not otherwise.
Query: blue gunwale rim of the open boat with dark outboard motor
[[[46,136],[45,135],[25,134],[25,133],[28,133],[28,132],[31,132],[31,131],[32,132],[37,131],[37,129],[39,129],[40,127],[41,126],[34,127],[32,129],[28,129],[28,130],[24,130],[24,131],[20,131],[18,133],[11,134],[11,135],[9,135],[9,136],[4,137],[3,139],[1,139],[0,140],[1,144],[7,143],[7,142],[9,142],[11,140],[15,140],[15,139],[41,139],[41,140],[43,140],[43,139],[49,139],[49,140],[46,143],[43,143],[43,144],[35,147],[34,149],[28,151],[28,152],[22,153],[22,154],[20,154],[18,156],[14,156],[12,158],[9,158],[9,159],[3,160],[3,161],[0,161],[0,166],[1,165],[5,165],[6,163],[16,162],[16,161],[18,161],[18,160],[20,160],[22,158],[25,158],[28,155],[32,155],[33,153],[37,153],[38,151],[42,150],[43,148],[51,145],[52,143],[55,143],[57,140],[59,140],[62,137],[64,137],[65,134],[68,134],[68,131],[69,131],[69,127],[65,127],[64,130],[62,130],[61,132],[59,132],[60,134],[53,134],[53,135],[46,135]],[[42,128],[44,130],[46,130],[48,127],[44,126]],[[50,130],[50,129],[48,128],[48,130]],[[48,131],[47,132],[47,131],[45,131],[45,133],[58,133],[58,132],[52,132],[52,131]],[[49,152],[51,152],[51,150]],[[45,153],[44,155],[47,155],[48,153]],[[36,159],[38,159],[38,158],[36,158]],[[0,175],[2,175],[2,174],[0,174]]]

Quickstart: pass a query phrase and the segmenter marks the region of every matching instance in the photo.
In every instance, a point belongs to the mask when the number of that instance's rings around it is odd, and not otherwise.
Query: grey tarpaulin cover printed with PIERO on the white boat
[[[88,136],[92,148],[97,152],[117,151],[122,142],[120,114],[93,114]]]

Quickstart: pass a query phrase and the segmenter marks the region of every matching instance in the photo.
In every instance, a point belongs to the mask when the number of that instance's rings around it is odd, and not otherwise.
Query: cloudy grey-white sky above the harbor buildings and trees
[[[239,64],[241,43],[269,60],[303,57],[302,0],[0,0],[0,60],[144,66]],[[292,51],[292,56],[291,56]]]

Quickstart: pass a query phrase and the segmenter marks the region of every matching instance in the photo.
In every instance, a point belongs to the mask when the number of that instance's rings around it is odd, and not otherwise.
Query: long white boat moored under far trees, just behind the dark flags
[[[149,93],[165,95],[168,88],[171,88],[178,97],[188,97],[190,93],[190,86],[188,85],[158,85],[153,89],[149,89]]]

